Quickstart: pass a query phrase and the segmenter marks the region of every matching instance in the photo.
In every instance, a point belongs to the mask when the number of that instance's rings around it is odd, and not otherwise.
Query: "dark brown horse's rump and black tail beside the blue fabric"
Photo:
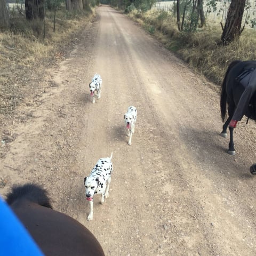
[[[95,236],[81,223],[52,210],[47,191],[28,183],[14,186],[6,202],[45,255],[105,256]]]

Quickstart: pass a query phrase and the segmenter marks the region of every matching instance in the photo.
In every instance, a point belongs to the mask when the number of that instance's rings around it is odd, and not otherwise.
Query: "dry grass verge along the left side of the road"
[[[69,17],[59,11],[53,32],[53,14],[47,13],[45,38],[42,21],[29,23],[22,15],[11,19],[11,28],[0,31],[0,115],[11,114],[28,93],[35,93],[33,76],[39,67],[61,58],[61,49],[93,17],[93,11]]]

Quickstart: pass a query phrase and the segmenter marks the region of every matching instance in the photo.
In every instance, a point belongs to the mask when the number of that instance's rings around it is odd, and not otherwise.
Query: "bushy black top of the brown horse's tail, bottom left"
[[[11,205],[17,200],[27,199],[30,202],[52,209],[51,199],[47,191],[39,185],[27,183],[25,185],[14,185],[12,191],[6,195],[6,203]]]

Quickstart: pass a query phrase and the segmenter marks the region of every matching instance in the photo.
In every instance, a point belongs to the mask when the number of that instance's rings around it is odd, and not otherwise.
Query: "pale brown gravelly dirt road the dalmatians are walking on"
[[[42,183],[54,209],[89,228],[106,255],[255,255],[254,122],[237,125],[229,156],[218,88],[124,15],[97,12],[73,51],[38,78],[36,97],[4,123],[0,193]],[[95,73],[103,82],[93,104]],[[131,146],[130,105],[138,109]],[[89,222],[83,179],[111,151],[110,195],[103,205],[94,198]]]

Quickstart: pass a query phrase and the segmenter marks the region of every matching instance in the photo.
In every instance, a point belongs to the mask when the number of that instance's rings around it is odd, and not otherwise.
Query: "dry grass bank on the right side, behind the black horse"
[[[222,30],[214,22],[195,33],[186,34],[178,31],[170,12],[150,10],[138,15],[134,10],[129,16],[215,84],[221,84],[231,61],[256,59],[256,31],[252,29],[245,29],[239,41],[222,46]]]

